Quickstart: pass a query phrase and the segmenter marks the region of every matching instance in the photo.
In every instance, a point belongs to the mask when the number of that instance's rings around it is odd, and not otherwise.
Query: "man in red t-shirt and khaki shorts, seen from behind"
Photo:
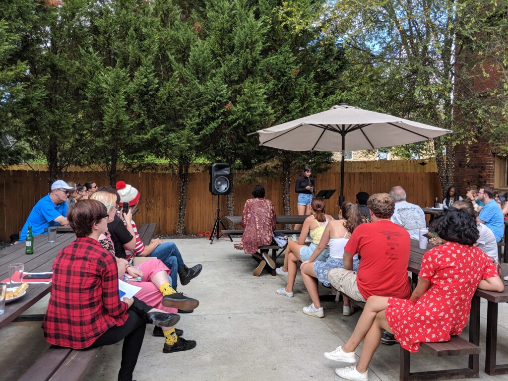
[[[409,233],[390,221],[395,201],[389,194],[370,196],[367,206],[372,223],[355,229],[344,247],[344,268],[330,270],[328,280],[337,291],[362,302],[371,295],[407,299]],[[358,274],[353,271],[356,253],[360,256]]]

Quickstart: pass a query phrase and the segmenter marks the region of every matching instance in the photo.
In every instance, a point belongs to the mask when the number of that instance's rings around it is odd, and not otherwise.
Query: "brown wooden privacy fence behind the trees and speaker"
[[[441,186],[434,161],[421,166],[418,161],[371,161],[346,162],[344,193],[345,199],[354,201],[361,190],[369,194],[389,192],[393,185],[401,185],[407,193],[409,202],[431,206],[434,198],[441,195]],[[35,203],[48,193],[48,172],[44,166],[37,170],[25,170],[11,167],[0,171],[0,240],[9,240],[9,236],[18,233]],[[235,214],[241,214],[245,200],[251,197],[253,183],[236,183],[241,173],[234,173]],[[297,196],[294,193],[292,179],[291,213],[298,214]],[[66,173],[63,179],[85,183],[96,181],[99,186],[107,185],[107,176],[100,171],[74,169]],[[141,193],[136,223],[156,223],[156,233],[174,233],[178,211],[178,176],[169,172],[129,172],[118,176],[133,185]],[[185,229],[189,233],[209,231],[213,228],[216,216],[216,196],[209,192],[208,172],[193,173],[189,181]],[[266,198],[272,200],[277,214],[282,214],[282,183],[280,178],[266,178],[261,184],[266,189]],[[332,199],[327,201],[327,212],[337,214],[336,206],[340,186],[340,165],[334,164],[326,173],[316,175],[316,190],[337,189]],[[221,217],[226,215],[226,197],[220,197]]]

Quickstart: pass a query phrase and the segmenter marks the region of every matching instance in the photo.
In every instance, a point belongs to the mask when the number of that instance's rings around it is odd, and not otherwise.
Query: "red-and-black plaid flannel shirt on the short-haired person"
[[[78,238],[58,253],[42,328],[48,342],[83,349],[127,320],[115,258],[99,241]]]

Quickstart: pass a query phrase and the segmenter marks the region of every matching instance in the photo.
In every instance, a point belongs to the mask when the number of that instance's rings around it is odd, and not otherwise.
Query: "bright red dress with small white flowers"
[[[419,276],[430,288],[413,303],[390,298],[388,325],[400,345],[418,352],[421,342],[448,341],[460,335],[480,280],[496,276],[496,268],[478,247],[446,242],[427,251]]]

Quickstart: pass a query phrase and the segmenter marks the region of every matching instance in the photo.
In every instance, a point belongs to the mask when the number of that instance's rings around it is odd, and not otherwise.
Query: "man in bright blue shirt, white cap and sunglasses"
[[[56,180],[51,184],[49,195],[40,199],[28,215],[19,240],[26,239],[29,226],[32,227],[32,233],[37,235],[44,233],[44,229],[50,226],[68,225],[66,200],[71,190],[74,188],[63,180]]]

